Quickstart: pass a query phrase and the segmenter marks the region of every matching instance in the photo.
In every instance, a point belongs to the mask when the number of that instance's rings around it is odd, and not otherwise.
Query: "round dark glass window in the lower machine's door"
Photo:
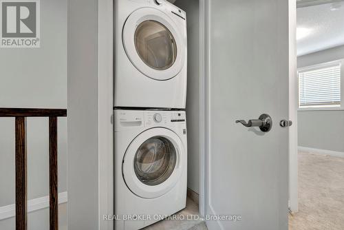
[[[145,185],[159,185],[171,176],[177,153],[170,140],[154,136],[144,141],[136,151],[134,170]]]

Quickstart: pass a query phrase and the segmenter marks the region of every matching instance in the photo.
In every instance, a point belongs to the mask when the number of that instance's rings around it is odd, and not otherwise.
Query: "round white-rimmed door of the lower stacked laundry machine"
[[[122,163],[127,187],[142,198],[157,198],[173,188],[182,174],[180,138],[169,129],[153,128],[129,145]]]

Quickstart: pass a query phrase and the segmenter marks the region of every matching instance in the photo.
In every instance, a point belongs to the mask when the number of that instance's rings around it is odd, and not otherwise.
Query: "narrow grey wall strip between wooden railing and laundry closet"
[[[98,229],[98,0],[68,2],[68,227]]]

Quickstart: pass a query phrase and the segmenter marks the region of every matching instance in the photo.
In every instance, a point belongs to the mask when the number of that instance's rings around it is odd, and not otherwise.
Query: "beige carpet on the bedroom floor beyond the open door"
[[[344,229],[344,158],[299,152],[299,212],[290,230]]]

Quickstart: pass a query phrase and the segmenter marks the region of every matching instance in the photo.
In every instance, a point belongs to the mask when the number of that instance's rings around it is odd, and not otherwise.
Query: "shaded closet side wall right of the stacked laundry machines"
[[[186,123],[188,129],[188,187],[199,193],[200,187],[200,3],[177,0],[175,6],[186,11],[188,30],[188,88]]]

